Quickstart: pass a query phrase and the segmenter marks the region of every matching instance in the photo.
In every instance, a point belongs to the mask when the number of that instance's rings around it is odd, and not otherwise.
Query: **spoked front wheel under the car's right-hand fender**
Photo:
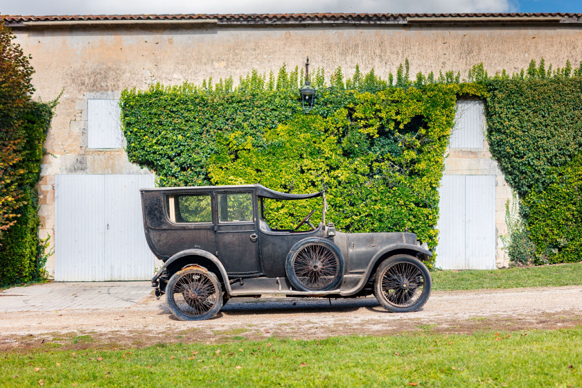
[[[422,261],[407,254],[391,256],[380,264],[374,296],[390,312],[416,311],[428,300],[432,280]]]

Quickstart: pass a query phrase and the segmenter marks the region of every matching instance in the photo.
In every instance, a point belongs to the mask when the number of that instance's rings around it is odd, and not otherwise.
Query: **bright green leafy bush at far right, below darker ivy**
[[[576,263],[582,252],[582,154],[524,199],[538,263]]]

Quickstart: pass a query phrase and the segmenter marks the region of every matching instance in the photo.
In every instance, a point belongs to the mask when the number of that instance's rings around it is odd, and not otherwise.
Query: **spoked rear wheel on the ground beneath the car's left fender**
[[[214,317],[222,307],[222,290],[215,274],[189,267],[173,274],[166,286],[168,308],[181,321]]]

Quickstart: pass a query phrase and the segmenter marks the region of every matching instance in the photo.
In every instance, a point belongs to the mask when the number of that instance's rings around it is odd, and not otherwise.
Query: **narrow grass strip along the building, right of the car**
[[[503,270],[434,271],[431,276],[432,289],[439,291],[582,285],[582,263]]]

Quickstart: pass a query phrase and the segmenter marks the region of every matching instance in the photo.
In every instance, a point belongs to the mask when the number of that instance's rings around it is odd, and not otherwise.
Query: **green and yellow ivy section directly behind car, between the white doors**
[[[126,90],[127,155],[154,170],[161,185],[326,189],[328,220],[340,229],[408,228],[434,249],[437,188],[457,96],[482,96],[485,89],[459,85],[452,73],[440,84],[432,75],[411,82],[406,67],[388,81],[358,71],[344,82],[338,69],[326,88],[319,69],[313,80],[323,91],[304,114],[302,78],[283,67],[276,78],[251,73],[234,90],[231,80]],[[292,227],[314,207],[269,202],[267,222]]]

